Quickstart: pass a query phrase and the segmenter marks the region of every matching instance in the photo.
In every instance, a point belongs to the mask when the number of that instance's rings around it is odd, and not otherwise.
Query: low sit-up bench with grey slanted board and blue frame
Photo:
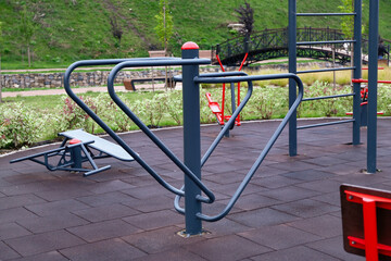
[[[65,137],[59,148],[15,159],[10,163],[30,160],[45,165],[49,171],[85,172],[84,176],[89,176],[111,167],[110,165],[98,167],[94,162],[97,159],[113,157],[122,161],[134,161],[118,145],[81,129],[60,133],[59,136]],[[92,170],[83,167],[83,163],[87,161]]]

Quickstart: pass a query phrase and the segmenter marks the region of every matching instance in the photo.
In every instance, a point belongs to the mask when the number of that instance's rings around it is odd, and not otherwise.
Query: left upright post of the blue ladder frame
[[[288,52],[289,73],[297,73],[297,1],[289,0],[288,8]],[[297,84],[289,79],[289,108],[297,98]],[[297,112],[289,120],[289,156],[298,154],[298,120]]]

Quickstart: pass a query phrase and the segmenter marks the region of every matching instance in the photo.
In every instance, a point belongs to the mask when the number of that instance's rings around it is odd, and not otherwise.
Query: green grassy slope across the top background
[[[23,67],[25,52],[18,33],[20,10],[23,1],[0,0],[0,21],[4,22],[2,48],[3,69]],[[36,67],[66,66],[80,59],[147,57],[148,50],[160,49],[154,33],[157,0],[34,0],[28,9],[38,14],[34,37]],[[174,17],[172,49],[178,54],[180,46],[192,40],[209,49],[230,38],[229,23],[236,23],[235,9],[242,0],[169,0]],[[254,9],[255,30],[288,25],[288,0],[249,0]],[[298,12],[339,12],[340,0],[298,0]],[[364,0],[364,18],[367,20],[369,0]],[[131,11],[130,11],[131,9]],[[391,39],[391,1],[380,0],[380,34]],[[121,52],[111,34],[110,17],[117,15],[124,34]],[[299,17],[298,26],[338,27],[338,17]],[[39,62],[41,61],[41,62]]]

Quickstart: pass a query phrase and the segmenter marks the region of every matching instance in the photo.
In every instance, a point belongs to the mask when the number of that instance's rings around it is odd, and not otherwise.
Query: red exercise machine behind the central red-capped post
[[[239,70],[238,72],[241,71],[241,69],[243,67],[243,64],[248,58],[249,53],[245,53],[240,66],[239,66]],[[225,69],[223,66],[223,63],[218,57],[218,53],[216,54],[216,59],[218,61],[218,64],[220,65],[222,67],[222,71],[225,72]],[[236,110],[236,102],[235,102],[235,84],[231,83],[230,84],[230,91],[231,91],[231,111],[234,113],[234,111]],[[237,89],[237,92],[238,92],[238,105],[240,104],[240,83],[238,83],[238,89]],[[231,115],[225,115],[225,94],[226,94],[226,84],[223,83],[223,94],[222,94],[222,107],[218,104],[218,102],[214,101],[211,97],[211,92],[206,92],[205,96],[206,96],[206,99],[207,99],[207,104],[209,107],[211,108],[212,112],[216,115],[216,119],[217,119],[217,123],[219,125],[224,125],[226,121],[228,121]],[[237,126],[240,126],[240,114],[236,117],[235,120],[235,125]],[[230,126],[230,129],[234,128],[234,125]],[[228,130],[229,132],[229,130]],[[229,133],[226,134],[226,136],[229,136]]]

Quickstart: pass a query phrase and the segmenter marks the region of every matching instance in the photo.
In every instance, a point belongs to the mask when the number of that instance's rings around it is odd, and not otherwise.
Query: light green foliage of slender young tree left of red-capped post
[[[155,15],[157,25],[154,27],[154,29],[156,32],[160,42],[162,42],[164,53],[166,54],[167,44],[173,36],[173,15],[171,15],[169,13],[169,8],[168,4],[166,4],[166,0],[160,0],[159,9],[160,12]]]

